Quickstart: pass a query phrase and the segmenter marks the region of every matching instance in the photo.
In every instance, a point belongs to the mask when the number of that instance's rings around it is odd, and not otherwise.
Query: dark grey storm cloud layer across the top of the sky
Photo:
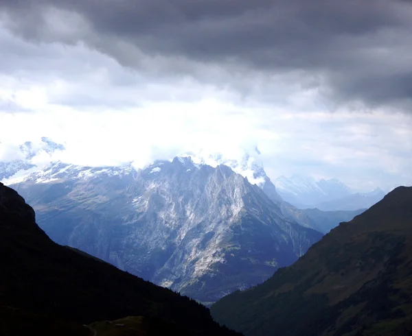
[[[409,1],[0,0],[0,8],[15,34],[38,41],[84,40],[130,67],[139,60],[119,43],[144,55],[236,64],[251,73],[304,71],[314,77],[312,86],[338,102],[403,107],[411,102]],[[85,26],[52,29],[58,22],[70,26],[73,15],[67,13],[78,14]],[[173,62],[169,70],[176,71]]]

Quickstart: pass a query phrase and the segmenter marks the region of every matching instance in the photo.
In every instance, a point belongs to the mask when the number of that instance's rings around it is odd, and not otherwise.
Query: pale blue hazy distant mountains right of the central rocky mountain
[[[322,211],[350,211],[369,208],[382,200],[385,192],[377,188],[368,193],[354,191],[336,179],[316,181],[313,178],[279,176],[277,193],[297,208],[318,208]]]

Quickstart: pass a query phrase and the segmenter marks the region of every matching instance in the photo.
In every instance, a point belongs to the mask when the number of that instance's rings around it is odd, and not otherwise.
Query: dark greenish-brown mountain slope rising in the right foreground
[[[211,313],[245,335],[410,335],[412,187],[395,189]]]

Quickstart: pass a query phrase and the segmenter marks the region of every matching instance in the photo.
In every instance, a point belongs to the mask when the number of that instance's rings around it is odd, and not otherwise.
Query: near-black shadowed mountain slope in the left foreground
[[[234,335],[194,300],[54,243],[1,183],[0,264],[1,335],[90,335],[82,324],[128,315],[173,322],[182,335]]]

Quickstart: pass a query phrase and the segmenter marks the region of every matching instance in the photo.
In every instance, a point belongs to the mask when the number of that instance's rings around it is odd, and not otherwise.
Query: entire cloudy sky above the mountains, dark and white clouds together
[[[258,146],[272,179],[411,185],[411,36],[405,0],[0,0],[0,160]]]

